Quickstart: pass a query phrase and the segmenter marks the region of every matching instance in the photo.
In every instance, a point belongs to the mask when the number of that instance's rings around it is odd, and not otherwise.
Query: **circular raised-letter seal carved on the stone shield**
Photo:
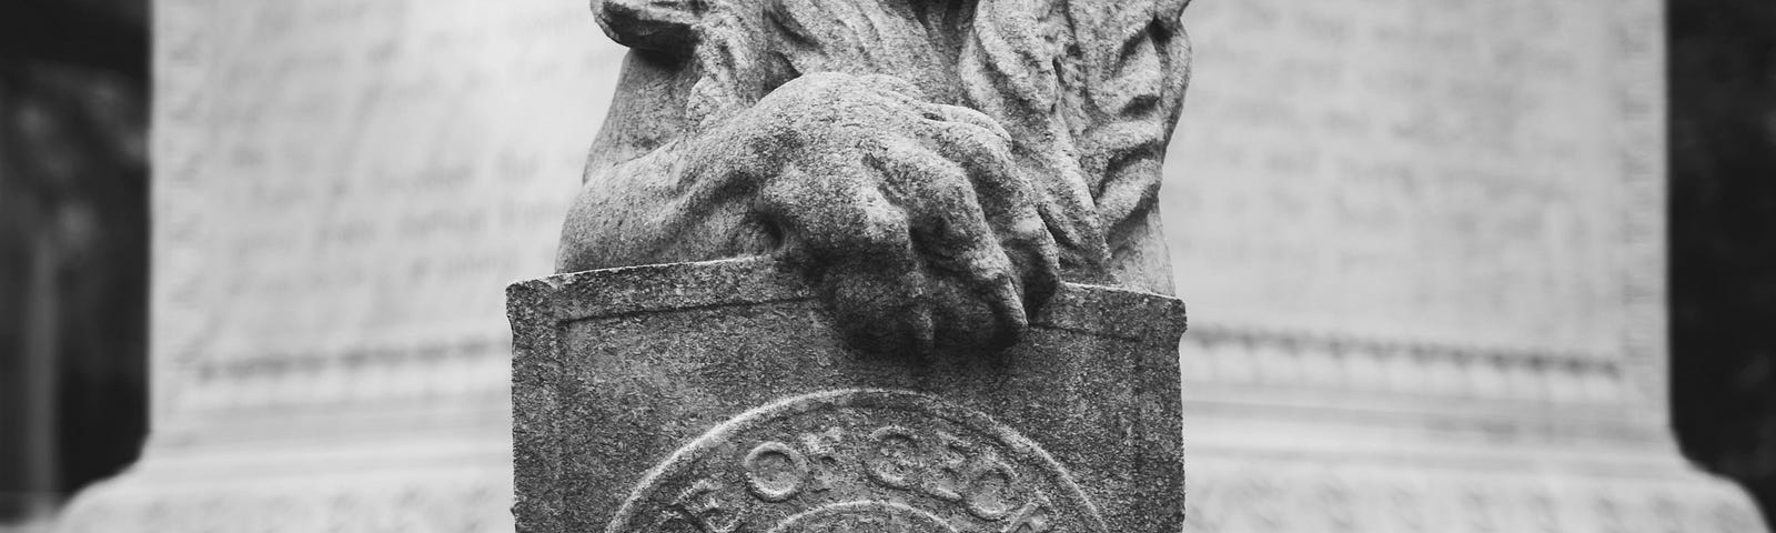
[[[606,533],[1106,531],[1048,451],[980,414],[852,389],[748,410],[650,469]]]

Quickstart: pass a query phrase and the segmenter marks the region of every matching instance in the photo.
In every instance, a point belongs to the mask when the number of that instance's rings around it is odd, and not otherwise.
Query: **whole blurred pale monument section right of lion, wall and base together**
[[[1764,529],[1671,439],[1661,5],[1190,7],[1188,531]]]

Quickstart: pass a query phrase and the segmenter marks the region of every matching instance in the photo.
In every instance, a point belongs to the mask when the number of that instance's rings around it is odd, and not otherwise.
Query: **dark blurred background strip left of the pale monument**
[[[0,524],[147,432],[146,0],[0,0]]]

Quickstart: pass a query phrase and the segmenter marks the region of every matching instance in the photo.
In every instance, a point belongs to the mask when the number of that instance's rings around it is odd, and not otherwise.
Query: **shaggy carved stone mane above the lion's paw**
[[[799,75],[785,48],[826,48],[842,55],[828,68],[918,75],[918,57],[884,50],[883,0],[595,0],[599,25],[627,46],[689,55],[698,82],[686,101],[691,124],[707,124],[746,108]],[[1090,266],[1119,277],[1146,270],[1106,254],[1140,254],[1146,213],[1160,187],[1160,162],[1190,84],[1190,43],[1181,14],[1190,0],[979,0],[932,2],[952,36],[966,94],[952,103],[998,119],[1025,156],[1071,155],[1032,165],[1041,174],[1046,210],[1069,210],[1076,224],[1051,227],[1062,263],[1076,277]],[[819,37],[826,41],[815,43]],[[957,39],[959,37],[959,39]],[[1025,167],[1032,167],[1025,165]],[[1156,222],[1156,220],[1154,220]],[[1108,233],[1108,235],[1105,235]],[[1101,240],[1101,242],[1099,242]],[[1140,263],[1163,261],[1142,258]],[[1108,263],[1108,265],[1106,265]],[[1169,279],[1124,279],[1169,293]],[[1160,275],[1165,277],[1165,275]]]

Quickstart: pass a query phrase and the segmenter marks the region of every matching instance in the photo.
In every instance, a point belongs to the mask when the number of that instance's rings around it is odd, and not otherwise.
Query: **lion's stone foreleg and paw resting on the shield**
[[[867,350],[1007,346],[1057,284],[1007,133],[899,78],[808,75],[643,160],[588,181],[561,270],[765,236]]]

